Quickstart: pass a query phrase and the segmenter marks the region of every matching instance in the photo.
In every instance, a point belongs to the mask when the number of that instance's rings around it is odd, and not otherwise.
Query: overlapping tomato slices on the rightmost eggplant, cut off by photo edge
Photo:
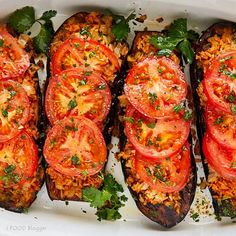
[[[212,60],[203,80],[207,131],[203,152],[225,179],[236,179],[236,51]]]

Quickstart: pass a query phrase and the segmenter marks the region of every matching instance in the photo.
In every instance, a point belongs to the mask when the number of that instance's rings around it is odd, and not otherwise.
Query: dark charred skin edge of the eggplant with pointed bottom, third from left
[[[130,54],[136,50],[135,47],[135,42],[137,40],[137,37],[140,37],[142,34],[153,34],[157,32],[136,32],[136,37],[133,41],[133,46],[131,48]],[[117,99],[115,101],[116,106],[117,106],[117,117],[118,116],[123,116],[124,115],[124,110],[120,107],[119,101],[118,101],[118,96],[123,94],[123,87],[125,83],[125,78],[129,70],[129,65],[128,63],[125,64],[123,67],[123,74],[122,78],[118,79],[116,81],[116,95]],[[126,135],[124,134],[124,127],[123,124],[117,119],[116,120],[116,127],[117,127],[117,132],[119,134],[119,148],[120,150],[124,150],[127,138]],[[189,143],[191,144],[191,135],[189,136]],[[129,175],[129,170],[125,167],[125,160],[121,160],[122,163],[122,170],[124,174],[124,179],[126,180],[128,175]],[[181,222],[185,216],[187,215],[190,206],[193,202],[194,196],[195,196],[195,191],[196,191],[196,185],[197,185],[197,168],[196,168],[196,163],[194,160],[194,156],[192,154],[192,149],[191,149],[191,171],[190,171],[190,178],[184,189],[180,192],[181,196],[181,210],[180,214],[177,214],[176,211],[171,208],[167,207],[164,204],[147,204],[144,205],[139,201],[139,196],[136,192],[134,192],[130,187],[129,191],[138,207],[138,209],[143,213],[144,216],[149,218],[150,220],[160,224],[161,226],[165,228],[171,228],[175,225],[177,225],[179,222]]]

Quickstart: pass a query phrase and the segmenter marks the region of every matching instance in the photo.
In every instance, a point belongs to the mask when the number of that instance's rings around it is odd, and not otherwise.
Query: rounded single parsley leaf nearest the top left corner
[[[23,7],[15,10],[8,18],[8,24],[18,33],[24,33],[35,22],[35,11],[33,7]]]

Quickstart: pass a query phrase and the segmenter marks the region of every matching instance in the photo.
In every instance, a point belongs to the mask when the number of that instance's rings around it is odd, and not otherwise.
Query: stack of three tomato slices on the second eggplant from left
[[[45,98],[52,128],[44,156],[57,172],[86,178],[103,169],[107,149],[102,131],[112,100],[108,84],[119,68],[110,48],[78,35],[53,54]]]

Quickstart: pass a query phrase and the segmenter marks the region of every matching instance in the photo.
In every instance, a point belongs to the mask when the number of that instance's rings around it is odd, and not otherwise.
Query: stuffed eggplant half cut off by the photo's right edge
[[[236,24],[203,32],[191,68],[198,135],[218,216],[236,217]]]

